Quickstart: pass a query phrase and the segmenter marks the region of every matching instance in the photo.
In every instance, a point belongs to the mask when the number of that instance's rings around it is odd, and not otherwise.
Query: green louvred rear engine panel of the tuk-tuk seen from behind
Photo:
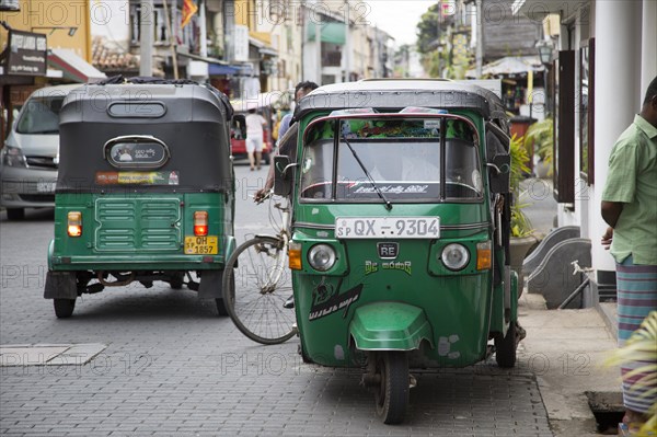
[[[177,198],[97,199],[97,251],[182,250]]]

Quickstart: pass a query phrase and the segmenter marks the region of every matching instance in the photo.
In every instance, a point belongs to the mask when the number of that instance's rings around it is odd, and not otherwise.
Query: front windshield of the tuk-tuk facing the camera
[[[378,199],[380,191],[389,200],[481,198],[476,138],[468,122],[453,116],[315,122],[304,133],[301,197],[358,202]]]

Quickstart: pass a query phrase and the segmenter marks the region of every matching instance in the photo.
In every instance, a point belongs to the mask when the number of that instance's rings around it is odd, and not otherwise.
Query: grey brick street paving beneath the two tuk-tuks
[[[0,344],[107,347],[85,365],[1,367],[0,435],[553,436],[527,358],[414,372],[406,423],[387,426],[358,369],[303,364],[296,338],[256,345],[186,289],[108,289],[58,320],[42,297],[51,223],[0,221]]]

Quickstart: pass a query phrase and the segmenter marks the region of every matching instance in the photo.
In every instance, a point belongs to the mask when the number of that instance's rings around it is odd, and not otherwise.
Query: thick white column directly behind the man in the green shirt
[[[600,217],[609,154],[641,110],[641,13],[638,1],[596,1],[596,126],[595,172],[589,205],[591,255],[596,269],[614,271],[614,262],[600,245],[607,225]],[[653,24],[654,25],[654,24]],[[611,32],[613,30],[613,32]]]

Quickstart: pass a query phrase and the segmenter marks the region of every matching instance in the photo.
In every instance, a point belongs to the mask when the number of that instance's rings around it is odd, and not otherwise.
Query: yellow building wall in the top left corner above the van
[[[91,62],[90,0],[20,0],[20,12],[0,12],[0,20],[18,31],[42,33],[48,48],[70,48]],[[64,28],[58,28],[64,27]],[[73,36],[70,28],[77,28]],[[8,33],[0,27],[0,51]]]

